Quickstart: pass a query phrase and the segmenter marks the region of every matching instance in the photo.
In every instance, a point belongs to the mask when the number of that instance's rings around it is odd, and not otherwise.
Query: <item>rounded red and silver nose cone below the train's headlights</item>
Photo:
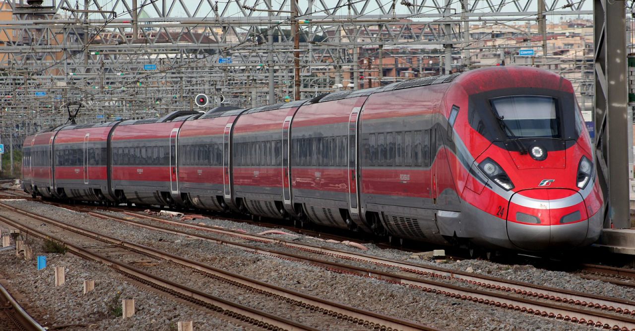
[[[584,200],[569,189],[529,189],[509,201],[507,236],[523,250],[574,248],[587,236]]]

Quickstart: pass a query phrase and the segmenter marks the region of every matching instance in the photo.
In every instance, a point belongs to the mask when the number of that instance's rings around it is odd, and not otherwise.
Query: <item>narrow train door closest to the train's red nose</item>
[[[359,220],[358,124],[361,107],[355,107],[349,117],[349,210],[353,220]]]

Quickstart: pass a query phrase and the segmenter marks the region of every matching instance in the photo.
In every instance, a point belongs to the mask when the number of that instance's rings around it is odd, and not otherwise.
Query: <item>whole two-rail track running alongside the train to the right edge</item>
[[[584,323],[594,327],[612,330],[635,330],[635,318],[633,317],[635,316],[635,302],[633,301],[589,295],[582,292],[543,287],[518,281],[503,280],[441,267],[422,266],[399,260],[354,253],[347,250],[307,245],[295,241],[268,238],[266,236],[246,234],[241,231],[232,231],[218,227],[201,226],[139,213],[126,212],[127,215],[133,217],[143,217],[164,224],[170,224],[170,226],[187,227],[197,231],[229,236],[230,238],[236,239],[236,241],[205,236],[192,231],[180,231],[171,227],[157,226],[156,224],[138,222],[129,219],[130,217],[126,219],[96,212],[90,212],[89,214],[94,217],[117,220],[117,222],[124,222],[147,229],[162,231],[164,233],[187,235],[190,238],[208,240],[220,245],[237,247],[249,252],[278,257],[280,259],[306,262],[339,273],[356,274],[358,276],[377,278],[391,283],[399,283],[413,288],[420,288],[426,292],[446,295],[457,299],[479,302],[491,306],[503,307],[505,309],[514,309],[525,313],[558,318],[575,323]],[[278,247],[293,248],[300,253],[288,253],[282,252],[281,250],[256,247],[238,242],[237,240],[275,244]],[[331,262],[326,259],[306,256],[306,253],[309,255],[322,255],[328,258],[335,258],[344,262],[364,262],[373,265],[373,268],[370,269],[340,262]],[[391,269],[392,271],[384,271]],[[447,283],[448,281],[450,284]]]

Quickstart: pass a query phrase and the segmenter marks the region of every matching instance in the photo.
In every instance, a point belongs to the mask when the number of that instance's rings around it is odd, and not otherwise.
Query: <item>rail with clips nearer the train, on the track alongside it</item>
[[[318,245],[311,245],[306,243],[298,243],[296,241],[283,240],[279,238],[269,238],[267,236],[261,236],[258,234],[242,233],[240,231],[232,231],[231,229],[223,229],[213,226],[202,226],[199,224],[191,224],[187,222],[164,219],[161,217],[155,217],[152,215],[144,215],[142,213],[124,212],[126,215],[135,217],[144,217],[147,219],[154,219],[159,222],[167,224],[173,224],[177,226],[189,227],[191,229],[207,231],[212,233],[221,233],[228,236],[233,236],[241,239],[248,239],[252,241],[260,241],[266,243],[275,243],[278,245],[284,245],[288,247],[295,247],[300,250],[309,252],[321,253],[324,255],[331,255],[334,257],[340,257],[342,259],[356,260],[377,264],[380,266],[398,267],[399,269],[414,273],[422,274],[425,276],[431,276],[435,278],[447,278],[464,281],[469,284],[476,284],[481,287],[495,288],[497,290],[504,290],[505,292],[516,292],[517,294],[529,295],[531,297],[538,297],[540,299],[547,298],[554,301],[570,302],[572,304],[578,304],[582,306],[595,307],[598,309],[615,310],[625,314],[635,314],[635,301],[606,297],[603,295],[592,295],[584,292],[577,292],[572,290],[558,289],[545,287],[542,285],[535,285],[531,283],[525,283],[515,280],[504,280],[493,276],[486,276],[482,274],[468,273],[467,271],[446,269],[436,266],[424,266],[422,264],[415,264],[411,262],[404,262],[401,260],[387,259],[385,257],[378,257],[375,255],[368,255],[364,253],[351,252],[349,250],[340,250],[337,248],[329,248]],[[97,215],[104,215],[96,213]],[[114,217],[107,215],[108,217]],[[99,216],[97,216],[99,217]],[[616,306],[618,304],[619,306]]]

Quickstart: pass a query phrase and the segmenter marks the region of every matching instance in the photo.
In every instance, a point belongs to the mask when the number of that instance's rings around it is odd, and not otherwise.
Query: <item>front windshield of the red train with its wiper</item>
[[[558,138],[556,99],[536,95],[493,98],[492,110],[508,138]]]

